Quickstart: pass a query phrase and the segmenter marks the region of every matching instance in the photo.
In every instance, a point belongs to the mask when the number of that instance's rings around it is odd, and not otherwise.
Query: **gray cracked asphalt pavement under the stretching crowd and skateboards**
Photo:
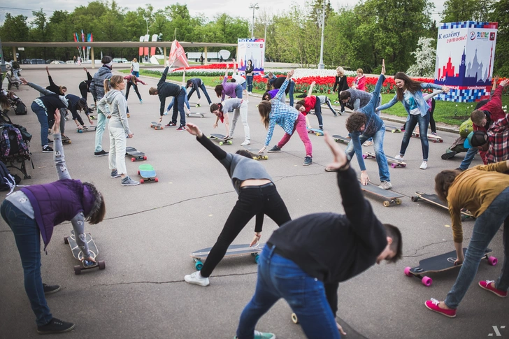
[[[31,65],[29,65],[31,66]],[[91,73],[93,73],[92,70]],[[114,68],[115,71],[115,68]],[[86,79],[82,68],[50,65],[55,83],[66,85],[78,94],[78,85]],[[44,68],[24,67],[24,78],[39,85],[48,85]],[[64,236],[71,224],[55,226],[47,254],[42,253],[42,276],[48,284],[60,284],[62,291],[48,296],[52,314],[76,323],[71,333],[55,338],[233,338],[238,318],[254,292],[257,266],[252,257],[224,259],[210,277],[209,287],[184,282],[184,275],[194,272],[191,252],[212,246],[233,208],[237,194],[224,167],[195,138],[175,128],[155,130],[150,122],[159,117],[159,100],[150,96],[148,88],[157,85],[156,78],[145,78],[147,86],[139,85],[143,104],[131,91],[129,124],[134,138],[128,146],[145,152],[147,161],[131,162],[127,170],[131,178],[139,179],[140,164],[154,166],[159,182],[136,187],[122,187],[120,179],[111,179],[108,157],[94,157],[94,133],[78,134],[74,122],[66,122],[65,134],[72,143],[64,145],[66,163],[71,176],[94,182],[106,201],[106,218],[98,225],[86,226],[99,248],[99,259],[106,261],[106,270],[87,271],[75,275],[73,259]],[[6,82],[4,82],[4,85]],[[214,92],[208,90],[215,101]],[[34,89],[20,87],[15,93],[29,108],[38,96]],[[89,95],[91,99],[91,95]],[[190,100],[196,103],[194,95]],[[249,103],[249,124],[252,147],[261,147],[266,130],[260,123],[252,96]],[[167,102],[166,104],[168,104]],[[220,124],[213,129],[215,116],[202,98],[200,108],[205,117],[189,117],[205,134],[224,134]],[[333,117],[325,108],[324,128],[331,134],[346,135],[347,115]],[[29,166],[30,180],[22,185],[43,184],[57,180],[52,154],[41,152],[40,125],[31,112],[23,116],[10,113],[11,119],[27,127],[34,138],[31,152],[35,168]],[[170,120],[164,117],[164,123]],[[314,115],[310,121],[317,126]],[[399,127],[399,122],[386,122]],[[238,125],[234,145],[225,150],[238,150],[243,141],[243,128]],[[275,127],[272,147],[284,131]],[[403,195],[401,205],[384,207],[382,200],[366,195],[382,222],[398,226],[403,234],[403,259],[397,264],[375,265],[361,275],[340,284],[338,290],[338,322],[347,332],[346,338],[509,338],[509,303],[477,286],[479,280],[496,280],[503,261],[502,231],[489,245],[499,266],[482,261],[471,288],[461,303],[457,317],[449,319],[427,310],[424,301],[443,300],[457,276],[458,269],[429,275],[431,287],[425,287],[415,277],[403,274],[406,266],[417,266],[427,257],[454,250],[450,218],[446,210],[424,202],[413,202],[415,191],[433,193],[434,176],[445,168],[457,168],[463,158],[440,159],[457,134],[440,131],[443,143],[429,143],[429,167],[420,170],[422,150],[420,140],[412,138],[405,161],[406,168],[390,168],[393,190]],[[396,155],[403,134],[385,134],[384,149]],[[343,212],[336,175],[326,173],[331,152],[323,137],[310,135],[313,143],[313,164],[302,166],[304,152],[299,136],[293,136],[278,154],[268,154],[263,161],[272,175],[278,192],[292,218],[313,212]],[[103,136],[108,150],[108,130]],[[340,147],[345,145],[340,144]],[[364,147],[373,152],[373,147]],[[366,159],[371,181],[379,183],[374,159]],[[481,164],[475,157],[473,165]],[[352,161],[357,170],[357,161]],[[16,172],[15,172],[16,173]],[[345,197],[347,199],[347,197]],[[464,245],[468,245],[474,222],[464,222]],[[268,239],[277,226],[266,218],[261,241]],[[254,231],[254,219],[245,226],[234,243],[249,243]],[[15,247],[13,233],[0,220],[0,338],[38,338],[34,314],[24,292],[22,266]],[[282,339],[305,338],[299,325],[290,319],[292,311],[285,301],[279,301],[257,325],[259,331],[270,331]],[[496,331],[495,331],[496,326]],[[503,329],[502,326],[506,326]],[[497,332],[498,331],[498,332]],[[491,333],[491,334],[490,334]],[[498,335],[498,334],[500,335]],[[48,336],[52,338],[52,336]]]

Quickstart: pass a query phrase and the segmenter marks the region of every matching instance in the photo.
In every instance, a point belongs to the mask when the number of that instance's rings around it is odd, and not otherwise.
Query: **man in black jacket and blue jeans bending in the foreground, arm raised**
[[[339,282],[401,257],[399,229],[375,217],[345,152],[327,132],[325,140],[334,154],[329,167],[338,172],[345,215],[305,215],[274,231],[261,252],[256,291],[242,312],[238,339],[254,338],[259,318],[280,298],[292,307],[307,338],[339,339]]]

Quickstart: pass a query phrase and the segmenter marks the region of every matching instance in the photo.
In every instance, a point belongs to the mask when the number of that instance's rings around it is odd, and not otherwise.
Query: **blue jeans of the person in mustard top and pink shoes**
[[[454,286],[445,298],[445,305],[449,308],[458,308],[461,299],[466,294],[477,273],[480,261],[485,255],[489,243],[503,223],[504,258],[502,272],[495,283],[495,288],[501,291],[509,289],[509,187],[496,196],[487,210],[482,213],[473,225],[472,238],[468,244],[465,260],[459,270]]]

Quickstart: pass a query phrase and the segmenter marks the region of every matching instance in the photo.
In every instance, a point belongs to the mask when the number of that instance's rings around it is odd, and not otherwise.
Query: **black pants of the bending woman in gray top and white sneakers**
[[[238,233],[241,233],[244,226],[248,224],[252,217],[259,214],[267,215],[278,226],[291,220],[285,202],[282,201],[274,185],[241,188],[241,192],[238,194],[238,201],[234,209],[231,210],[220,236],[217,238],[212,250],[210,250],[205,264],[203,264],[201,269],[202,277],[208,277],[212,274],[215,266],[224,257],[228,246],[234,242]]]

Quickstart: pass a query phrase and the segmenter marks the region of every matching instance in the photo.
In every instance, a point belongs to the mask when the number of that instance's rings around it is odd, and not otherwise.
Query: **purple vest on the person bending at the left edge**
[[[44,249],[50,243],[55,225],[73,219],[79,212],[87,216],[95,200],[94,195],[80,180],[58,180],[49,184],[23,187],[21,190],[34,208]]]

